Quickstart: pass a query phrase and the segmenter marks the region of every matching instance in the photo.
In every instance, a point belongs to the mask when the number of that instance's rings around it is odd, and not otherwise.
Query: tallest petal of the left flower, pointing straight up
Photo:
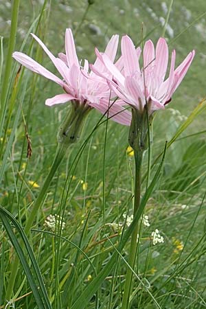
[[[73,41],[73,34],[70,28],[68,28],[65,33],[65,50],[66,50],[68,66],[72,67],[72,65],[76,65],[77,67],[79,67],[80,64],[78,61],[78,56],[76,54],[76,48]]]

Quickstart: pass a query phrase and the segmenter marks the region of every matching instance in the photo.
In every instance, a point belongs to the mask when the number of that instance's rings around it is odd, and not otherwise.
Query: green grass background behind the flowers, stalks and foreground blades
[[[21,48],[32,22],[41,12],[42,5],[42,1],[21,1],[16,50]],[[142,22],[144,36],[151,32],[150,38],[156,42],[163,32],[163,19],[166,18],[166,8],[169,5],[170,1],[110,0],[104,3],[95,1],[89,8],[81,27],[78,28],[87,8],[87,1],[52,0],[47,3],[37,34],[52,53],[57,54],[64,51],[65,28],[71,27],[73,32],[78,29],[76,33],[78,56],[82,59],[86,57],[92,62],[95,58],[94,47],[98,46],[103,51],[108,38],[114,33],[119,35],[127,33],[135,43],[139,43],[143,35],[141,34]],[[0,1],[0,11],[1,36],[4,37],[3,49],[6,54],[10,32],[10,2]],[[198,0],[195,3],[186,0],[174,1],[172,5],[168,30],[165,32],[165,37],[170,44],[170,53],[172,49],[176,49],[176,63],[181,62],[192,49],[196,50],[196,57],[167,111],[161,111],[155,116],[154,159],[163,150],[165,140],[169,140],[183,123],[182,116],[188,116],[205,96],[206,17],[202,16],[196,20],[204,12],[204,0]],[[196,22],[192,24],[195,20]],[[186,30],[186,27],[189,28]],[[32,38],[29,36],[23,48],[26,54],[29,52],[31,42]],[[47,69],[55,72],[49,59],[36,43],[32,47],[32,55],[38,61],[42,61]],[[13,77],[18,68],[19,66],[16,65]],[[54,108],[45,106],[46,98],[60,92],[58,85],[25,70],[12,108],[10,124],[3,131],[6,135],[3,151],[11,134],[14,134],[14,139],[5,162],[5,173],[1,179],[0,204],[8,209],[22,225],[38,193],[38,187],[32,186],[31,183],[35,181],[40,187],[43,184],[54,158],[57,128],[69,108],[68,106]],[[10,98],[8,108],[9,104]],[[14,126],[19,106],[21,106],[21,115]],[[32,140],[33,155],[28,161],[22,115],[25,117],[27,132]],[[92,111],[87,119],[82,141],[89,135],[98,119],[100,114]],[[183,133],[185,139],[176,141],[168,150],[161,181],[157,184],[156,191],[146,207],[150,227],[143,227],[142,231],[139,275],[144,278],[161,308],[206,307],[205,244],[200,242],[204,236],[205,225],[205,207],[202,203],[205,192],[205,133],[187,137],[202,130],[205,130],[205,113],[198,116],[190,128]],[[53,308],[71,306],[95,276],[88,261],[81,255],[77,255],[78,251],[69,244],[68,240],[87,253],[93,268],[98,273],[113,252],[111,244],[102,241],[105,234],[113,237],[111,238],[113,244],[117,244],[120,234],[111,227],[111,224],[113,222],[124,224],[122,214],[126,211],[129,211],[129,214],[132,213],[133,173],[131,170],[134,166],[133,157],[126,155],[128,128],[108,122],[106,144],[104,143],[105,132],[104,124],[89,140],[73,172],[75,177],[71,181],[67,195],[64,192],[64,186],[68,188],[69,166],[76,158],[80,144],[71,149],[52,182],[43,209],[38,214],[36,230],[31,233],[30,242],[45,279],[49,297],[52,299]],[[144,173],[146,164],[147,154],[144,159]],[[87,190],[83,190],[82,181],[87,183]],[[144,183],[143,192],[145,187]],[[46,231],[44,222],[46,216],[62,214],[63,209],[65,209],[65,229],[62,231],[62,236],[67,240],[62,240],[58,248],[58,239],[43,232]],[[103,214],[106,220],[105,229]],[[155,247],[150,245],[149,237],[156,228],[161,231],[165,242]],[[5,288],[10,276],[14,249],[3,227],[0,238],[1,272],[3,273],[0,280],[1,306],[5,302]],[[127,252],[126,247],[123,253],[125,258],[127,258]],[[52,260],[52,253],[54,253],[54,260]],[[87,308],[119,308],[125,270],[124,262],[119,259],[116,272],[111,273],[111,277],[104,281],[98,297],[93,297]],[[88,276],[91,276],[91,279]],[[59,289],[58,282],[60,282]],[[63,282],[65,282],[64,285]],[[138,284],[136,287],[132,308],[155,308],[146,290]],[[13,297],[22,298],[15,301],[15,308],[36,308],[32,295],[26,295],[30,290],[25,275],[20,269]],[[99,305],[94,302],[95,299],[99,299]]]

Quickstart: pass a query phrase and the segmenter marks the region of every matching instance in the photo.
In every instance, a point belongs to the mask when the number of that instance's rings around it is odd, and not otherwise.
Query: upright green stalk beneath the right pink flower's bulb
[[[135,151],[135,150],[134,150]],[[141,161],[142,161],[143,151],[135,151],[135,201],[134,201],[134,211],[133,216],[137,214],[140,205],[141,196]],[[138,235],[138,223],[133,229],[131,242],[130,242],[130,253],[128,258],[128,264],[131,268],[135,266],[135,259],[137,253],[137,235]],[[130,268],[126,272],[126,281],[124,284],[124,295],[122,299],[122,309],[127,309],[129,306],[130,290],[133,281],[133,272]]]

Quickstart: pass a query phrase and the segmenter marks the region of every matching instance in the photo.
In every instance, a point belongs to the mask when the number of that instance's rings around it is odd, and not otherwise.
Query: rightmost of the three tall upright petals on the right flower
[[[159,38],[155,55],[155,77],[158,84],[161,84],[165,78],[168,68],[168,45],[164,38]]]

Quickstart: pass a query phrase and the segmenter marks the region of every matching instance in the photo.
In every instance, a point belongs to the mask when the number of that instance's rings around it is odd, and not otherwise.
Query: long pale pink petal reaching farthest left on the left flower
[[[21,63],[24,67],[27,67],[27,69],[30,69],[31,71],[41,74],[45,78],[48,78],[49,80],[53,80],[57,84],[60,84],[60,86],[64,87],[65,83],[60,80],[57,76],[55,76],[52,72],[49,72],[45,67],[40,65],[38,62],[36,62],[34,59],[30,58],[29,56],[20,53],[20,52],[14,52],[12,54],[13,58],[16,59],[18,62]]]

